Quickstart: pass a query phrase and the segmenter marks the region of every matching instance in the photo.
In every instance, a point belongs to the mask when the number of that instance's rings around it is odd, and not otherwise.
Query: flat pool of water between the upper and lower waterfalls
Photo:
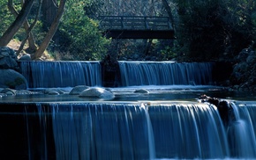
[[[148,92],[135,92],[145,89]],[[45,89],[34,89],[37,94],[17,95],[0,98],[1,102],[83,102],[83,101],[197,101],[200,95],[206,94],[213,98],[235,100],[256,100],[255,92],[228,91],[225,88],[209,85],[147,85],[120,88],[108,88],[115,98],[79,98],[78,95],[69,95],[72,88],[61,88],[64,94],[47,95],[41,92]]]

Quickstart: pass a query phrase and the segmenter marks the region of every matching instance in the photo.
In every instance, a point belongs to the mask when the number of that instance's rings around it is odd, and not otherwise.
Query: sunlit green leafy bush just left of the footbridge
[[[63,35],[62,48],[72,55],[72,60],[101,60],[107,52],[109,41],[102,37],[98,22],[85,15],[88,1],[68,1],[63,23],[60,25]]]

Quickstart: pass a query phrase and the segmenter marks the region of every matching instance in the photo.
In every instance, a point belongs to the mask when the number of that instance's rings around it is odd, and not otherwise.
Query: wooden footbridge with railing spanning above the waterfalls
[[[174,39],[168,17],[102,16],[100,29],[113,39]]]

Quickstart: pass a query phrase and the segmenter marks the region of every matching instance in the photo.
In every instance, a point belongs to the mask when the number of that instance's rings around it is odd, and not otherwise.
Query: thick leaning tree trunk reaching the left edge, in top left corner
[[[9,26],[9,28],[4,32],[3,36],[0,38],[0,47],[5,47],[8,45],[10,40],[13,38],[15,33],[19,31],[19,28],[24,24],[27,15],[29,14],[34,0],[26,0],[23,4],[21,11],[19,12],[18,17],[14,22]]]

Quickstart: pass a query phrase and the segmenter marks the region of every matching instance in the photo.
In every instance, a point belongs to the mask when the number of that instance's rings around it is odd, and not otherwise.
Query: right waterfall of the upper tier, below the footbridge
[[[212,83],[211,62],[119,62],[123,86]]]

